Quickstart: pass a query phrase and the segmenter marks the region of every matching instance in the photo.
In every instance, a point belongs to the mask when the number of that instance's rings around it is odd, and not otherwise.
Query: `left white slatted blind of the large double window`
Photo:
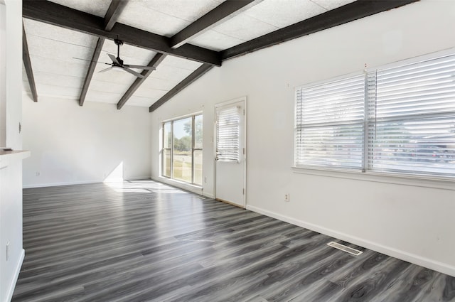
[[[296,166],[363,167],[365,76],[296,89]]]

